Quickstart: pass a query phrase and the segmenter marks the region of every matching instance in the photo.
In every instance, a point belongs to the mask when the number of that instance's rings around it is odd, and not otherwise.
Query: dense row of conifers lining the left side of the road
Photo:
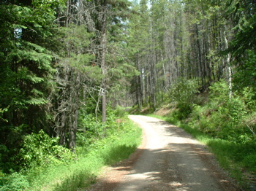
[[[31,163],[35,156],[29,156],[27,142],[39,141],[37,133],[75,152],[77,133],[90,131],[87,115],[105,132],[107,102],[117,106],[122,96],[129,104],[126,89],[137,71],[121,43],[128,6],[127,1],[1,2],[1,171]]]

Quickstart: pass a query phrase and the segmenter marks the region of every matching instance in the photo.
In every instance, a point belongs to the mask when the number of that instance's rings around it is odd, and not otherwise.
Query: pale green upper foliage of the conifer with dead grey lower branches
[[[96,66],[95,55],[89,54],[89,45],[94,34],[89,33],[84,26],[69,25],[61,28],[64,58],[61,63],[71,66],[75,71],[86,77],[87,81],[99,84],[102,79],[101,69]]]

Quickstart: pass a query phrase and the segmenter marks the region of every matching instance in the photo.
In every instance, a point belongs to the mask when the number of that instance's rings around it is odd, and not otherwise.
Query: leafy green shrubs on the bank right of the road
[[[200,130],[233,142],[255,140],[252,120],[255,93],[252,88],[244,87],[229,98],[227,82],[221,80],[212,85],[210,90],[210,102],[203,107],[194,107],[191,115],[193,120],[199,120]]]

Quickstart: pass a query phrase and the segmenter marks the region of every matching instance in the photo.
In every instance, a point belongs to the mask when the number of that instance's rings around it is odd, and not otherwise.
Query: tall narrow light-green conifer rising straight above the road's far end
[[[145,79],[148,73],[147,56],[149,54],[148,47],[150,46],[150,17],[147,3],[148,1],[146,0],[140,1],[139,4],[134,3],[132,9],[135,14],[129,18],[128,23],[129,58],[135,63],[138,71],[140,71],[140,75],[134,77],[130,91],[135,94],[136,104],[138,104],[139,109],[142,108],[144,101],[148,98],[146,95]]]

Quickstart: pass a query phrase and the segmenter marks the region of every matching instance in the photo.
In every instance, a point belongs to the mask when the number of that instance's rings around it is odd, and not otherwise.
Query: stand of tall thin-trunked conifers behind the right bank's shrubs
[[[136,88],[142,95],[139,106],[146,102],[155,109],[156,98],[160,101],[162,93],[179,77],[200,80],[202,91],[212,82],[230,77],[229,55],[220,54],[235,33],[231,30],[234,25],[230,25],[230,14],[235,10],[225,11],[232,9],[227,1],[162,0],[151,1],[150,8],[147,4],[135,4],[143,16],[135,16],[129,27],[143,31],[135,38],[148,43],[135,44],[138,52],[134,59],[142,79]]]

